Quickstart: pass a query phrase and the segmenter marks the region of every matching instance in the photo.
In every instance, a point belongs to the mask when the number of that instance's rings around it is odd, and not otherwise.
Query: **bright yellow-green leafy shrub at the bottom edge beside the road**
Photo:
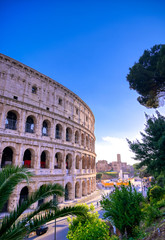
[[[99,214],[94,212],[93,205],[90,208],[87,205],[84,206],[87,210],[85,217],[68,219],[67,238],[69,240],[111,240],[108,226],[98,218]]]

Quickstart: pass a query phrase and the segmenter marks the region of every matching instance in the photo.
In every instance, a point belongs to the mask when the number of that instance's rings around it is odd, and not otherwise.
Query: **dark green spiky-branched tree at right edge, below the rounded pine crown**
[[[146,115],[145,132],[142,140],[128,141],[129,148],[135,153],[135,160],[140,161],[139,168],[146,166],[146,172],[157,177],[165,173],[165,117]]]

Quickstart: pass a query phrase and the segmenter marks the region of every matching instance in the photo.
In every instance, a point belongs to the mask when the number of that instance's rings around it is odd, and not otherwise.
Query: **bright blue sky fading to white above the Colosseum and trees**
[[[60,82],[95,115],[97,160],[130,164],[144,112],[126,76],[165,43],[164,0],[1,0],[0,52]],[[159,108],[164,114],[164,107]]]

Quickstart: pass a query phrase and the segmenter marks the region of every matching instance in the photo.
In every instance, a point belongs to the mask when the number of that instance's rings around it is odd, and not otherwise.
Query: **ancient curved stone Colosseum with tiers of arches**
[[[47,183],[64,187],[59,203],[92,194],[94,123],[90,108],[72,91],[0,54],[0,167],[24,165],[34,173],[29,184],[17,186],[3,211],[10,212]]]

